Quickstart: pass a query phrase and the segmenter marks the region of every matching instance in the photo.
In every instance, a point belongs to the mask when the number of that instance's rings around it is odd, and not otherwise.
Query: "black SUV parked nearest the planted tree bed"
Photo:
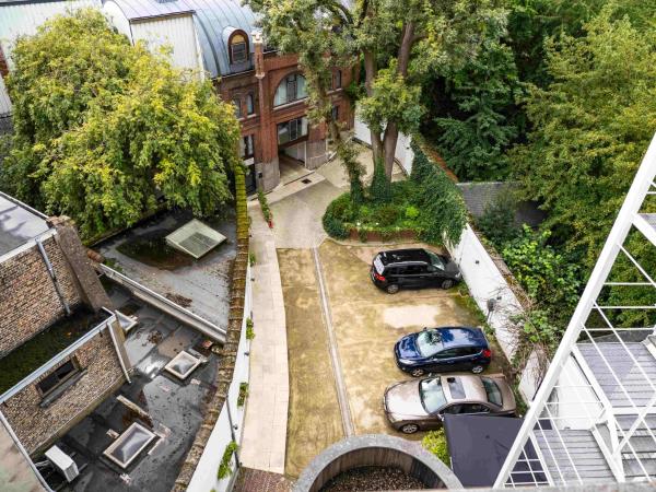
[[[377,288],[396,294],[399,289],[450,289],[461,274],[455,262],[427,249],[394,249],[376,255],[371,277]]]

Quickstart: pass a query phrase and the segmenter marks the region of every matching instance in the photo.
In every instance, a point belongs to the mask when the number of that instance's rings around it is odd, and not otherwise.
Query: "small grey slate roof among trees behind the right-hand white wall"
[[[502,196],[512,194],[517,189],[517,183],[512,181],[487,181],[487,183],[458,183],[458,188],[462,191],[462,198],[469,213],[475,218],[480,218],[485,209],[493,204]],[[531,227],[540,225],[544,220],[546,213],[538,209],[538,204],[532,201],[520,201],[515,211],[515,222],[528,224]]]

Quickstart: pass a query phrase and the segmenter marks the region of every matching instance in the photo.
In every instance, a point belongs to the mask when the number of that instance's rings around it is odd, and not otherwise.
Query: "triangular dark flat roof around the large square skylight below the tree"
[[[236,257],[234,211],[226,219],[202,222],[226,237],[195,259],[165,242],[165,236],[192,219],[188,212],[160,213],[95,246],[107,266],[220,328],[227,328],[230,282]]]

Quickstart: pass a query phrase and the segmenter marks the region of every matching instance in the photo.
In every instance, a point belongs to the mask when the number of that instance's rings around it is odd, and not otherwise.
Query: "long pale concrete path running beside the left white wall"
[[[242,464],[248,468],[284,472],[289,368],[284,303],[273,233],[257,201],[248,203],[251,269],[253,324],[250,383],[242,440]]]

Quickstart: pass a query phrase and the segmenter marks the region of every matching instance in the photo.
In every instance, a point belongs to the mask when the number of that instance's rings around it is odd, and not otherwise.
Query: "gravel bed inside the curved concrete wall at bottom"
[[[418,490],[425,488],[420,480],[398,468],[363,467],[338,475],[326,483],[320,492]]]

